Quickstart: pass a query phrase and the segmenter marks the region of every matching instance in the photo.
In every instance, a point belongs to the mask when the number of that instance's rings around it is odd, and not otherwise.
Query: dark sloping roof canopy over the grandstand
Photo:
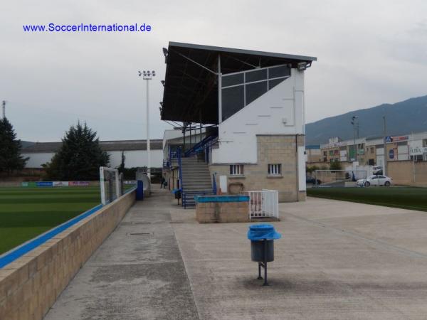
[[[162,120],[218,124],[218,60],[221,73],[298,63],[314,57],[169,42],[164,49],[166,77]]]

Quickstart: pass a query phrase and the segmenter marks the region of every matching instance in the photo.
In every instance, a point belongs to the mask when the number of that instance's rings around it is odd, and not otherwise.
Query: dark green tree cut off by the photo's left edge
[[[21,156],[21,140],[16,139],[14,127],[5,117],[0,120],[0,172],[11,174],[21,170],[29,158]]]

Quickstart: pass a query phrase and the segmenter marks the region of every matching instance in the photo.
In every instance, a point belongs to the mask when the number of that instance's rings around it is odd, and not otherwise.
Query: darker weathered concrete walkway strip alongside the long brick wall
[[[198,319],[169,200],[154,190],[135,204],[45,319]]]

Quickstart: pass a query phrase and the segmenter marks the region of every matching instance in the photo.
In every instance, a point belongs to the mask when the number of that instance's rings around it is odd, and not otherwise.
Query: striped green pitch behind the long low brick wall
[[[0,254],[99,203],[99,187],[0,188]]]

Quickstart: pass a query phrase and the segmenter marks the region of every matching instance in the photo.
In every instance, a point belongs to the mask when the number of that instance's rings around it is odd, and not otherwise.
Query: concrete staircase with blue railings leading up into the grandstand
[[[195,206],[194,195],[212,194],[209,166],[196,157],[181,158],[182,205],[184,208]]]

